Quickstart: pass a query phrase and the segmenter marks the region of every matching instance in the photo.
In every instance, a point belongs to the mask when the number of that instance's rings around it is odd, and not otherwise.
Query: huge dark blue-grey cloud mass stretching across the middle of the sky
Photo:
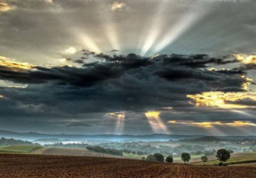
[[[93,54],[90,54],[90,56]],[[246,73],[240,70],[208,70],[207,55],[162,55],[150,59],[135,54],[94,55],[105,62],[83,67],[34,66],[19,69],[0,66],[0,79],[29,84],[26,88],[1,88],[2,100],[28,114],[76,115],[89,112],[146,112],[164,107],[191,107],[188,94],[209,91],[243,92]],[[178,58],[179,60],[176,60]],[[210,61],[209,61],[210,60]],[[172,64],[167,63],[172,61]],[[188,65],[188,63],[193,63]],[[216,63],[215,63],[216,64]],[[217,63],[218,64],[218,63]],[[46,115],[47,115],[46,114]]]

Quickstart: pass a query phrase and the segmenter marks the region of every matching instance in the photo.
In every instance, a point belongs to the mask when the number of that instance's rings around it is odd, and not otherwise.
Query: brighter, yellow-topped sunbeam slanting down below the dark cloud
[[[168,129],[165,125],[165,123],[163,123],[162,119],[160,118],[160,112],[158,111],[149,111],[145,113],[147,120],[151,126],[151,128],[153,129],[153,132],[155,133],[165,133],[168,134]]]

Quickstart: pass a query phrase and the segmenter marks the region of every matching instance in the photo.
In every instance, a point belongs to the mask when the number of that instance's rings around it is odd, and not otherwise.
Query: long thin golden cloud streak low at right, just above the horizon
[[[168,123],[172,124],[185,124],[190,126],[198,126],[198,127],[204,127],[204,128],[211,128],[214,126],[232,126],[232,127],[243,127],[243,126],[255,126],[255,123],[247,122],[247,121],[233,121],[233,122],[192,122],[192,121],[168,121]]]

